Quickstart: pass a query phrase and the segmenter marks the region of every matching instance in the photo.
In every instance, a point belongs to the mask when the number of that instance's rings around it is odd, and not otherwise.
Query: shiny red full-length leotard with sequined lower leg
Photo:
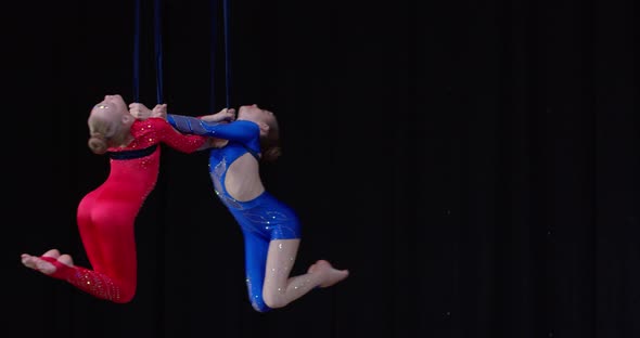
[[[165,143],[193,153],[206,138],[185,135],[162,118],[136,120],[131,126],[135,140],[111,153],[143,150]],[[148,156],[132,159],[110,159],[106,181],[87,194],[77,210],[78,229],[93,270],[69,268],[47,259],[57,269],[52,277],[65,280],[98,298],[116,303],[129,302],[136,294],[137,256],[133,223],[138,211],[157,181],[161,147]]]

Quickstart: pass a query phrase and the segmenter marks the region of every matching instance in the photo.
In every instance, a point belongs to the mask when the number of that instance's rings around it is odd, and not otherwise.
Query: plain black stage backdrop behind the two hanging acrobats
[[[131,303],[25,269],[52,247],[88,264],[75,211],[107,158],[86,120],[104,94],[132,100],[135,21],[133,1],[23,2],[2,21],[2,336],[640,337],[630,1],[230,2],[231,105],[279,116],[265,181],[303,220],[295,272],[324,258],[350,277],[255,312],[206,152],[168,147]],[[221,108],[209,2],[162,10],[169,110]],[[142,13],[153,106],[152,1]]]

